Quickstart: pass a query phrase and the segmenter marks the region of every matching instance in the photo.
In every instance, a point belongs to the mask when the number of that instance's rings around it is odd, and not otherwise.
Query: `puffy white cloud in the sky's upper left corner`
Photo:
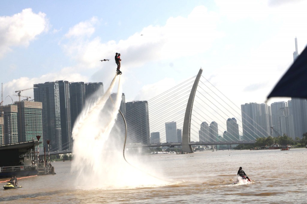
[[[13,16],[0,16],[0,58],[13,46],[28,46],[30,41],[48,30],[45,13],[23,9]]]

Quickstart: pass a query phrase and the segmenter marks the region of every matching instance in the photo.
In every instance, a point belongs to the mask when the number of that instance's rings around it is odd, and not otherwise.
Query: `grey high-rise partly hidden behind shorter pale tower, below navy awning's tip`
[[[286,102],[281,101],[281,102],[274,102],[271,103],[271,112],[272,112],[272,127],[275,131],[278,132],[279,135],[282,135],[282,131],[280,129],[280,116],[279,115],[279,109],[284,109],[286,107]],[[278,134],[276,134],[273,131],[273,137],[277,137]]]

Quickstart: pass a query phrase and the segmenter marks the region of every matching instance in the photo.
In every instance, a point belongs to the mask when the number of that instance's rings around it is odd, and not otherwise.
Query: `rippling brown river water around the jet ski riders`
[[[0,190],[0,203],[307,203],[305,148],[143,155],[140,160],[169,184],[82,190],[74,185],[74,161],[58,161],[52,163],[56,175],[19,179],[22,188]],[[240,166],[251,184],[233,184]]]

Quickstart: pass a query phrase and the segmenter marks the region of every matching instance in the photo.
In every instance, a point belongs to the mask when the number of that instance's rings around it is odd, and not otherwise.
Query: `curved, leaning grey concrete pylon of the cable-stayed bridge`
[[[198,82],[200,80],[201,73],[203,72],[203,69],[200,68],[196,79],[194,81],[189,99],[188,99],[188,104],[187,108],[185,110],[185,119],[183,122],[183,129],[182,129],[182,151],[183,152],[188,152],[188,153],[193,153],[192,145],[189,145],[191,142],[191,117],[192,117],[192,109],[193,109],[193,102],[196,94],[196,89],[198,86]]]

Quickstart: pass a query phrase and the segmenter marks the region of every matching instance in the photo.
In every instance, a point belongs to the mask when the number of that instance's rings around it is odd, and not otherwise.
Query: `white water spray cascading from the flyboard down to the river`
[[[72,172],[76,172],[76,186],[81,189],[122,189],[165,185],[168,182],[149,176],[146,173],[149,169],[136,160],[133,160],[133,166],[137,168],[127,164],[122,149],[117,148],[123,146],[121,137],[125,136],[111,134],[122,98],[120,77],[115,104],[108,101],[116,78],[97,101],[86,102],[74,124]]]

